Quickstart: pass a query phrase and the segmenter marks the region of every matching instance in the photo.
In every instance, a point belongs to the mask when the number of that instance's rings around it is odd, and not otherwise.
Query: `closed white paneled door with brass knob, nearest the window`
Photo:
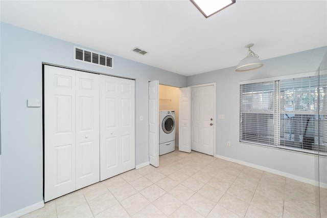
[[[214,155],[214,85],[192,88],[192,150]]]

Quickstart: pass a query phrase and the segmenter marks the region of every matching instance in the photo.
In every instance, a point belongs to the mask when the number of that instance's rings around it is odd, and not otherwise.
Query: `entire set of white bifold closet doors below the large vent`
[[[135,81],[44,65],[44,201],[135,168]]]

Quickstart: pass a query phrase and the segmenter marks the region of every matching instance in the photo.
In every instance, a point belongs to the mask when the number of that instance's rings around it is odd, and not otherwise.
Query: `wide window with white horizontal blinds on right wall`
[[[240,85],[240,141],[327,154],[326,75]]]

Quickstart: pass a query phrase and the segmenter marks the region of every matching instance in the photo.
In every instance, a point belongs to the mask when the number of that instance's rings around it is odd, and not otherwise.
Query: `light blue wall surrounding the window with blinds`
[[[216,155],[290,173],[317,181],[317,157],[300,152],[249,145],[239,142],[239,82],[316,72],[327,47],[263,60],[265,66],[248,72],[235,72],[235,67],[198,74],[187,78],[188,85],[216,82]],[[236,63],[237,64],[237,63]],[[227,141],[231,146],[227,147]]]

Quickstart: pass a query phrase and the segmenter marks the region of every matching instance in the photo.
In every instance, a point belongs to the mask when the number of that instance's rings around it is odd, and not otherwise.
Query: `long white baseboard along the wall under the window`
[[[311,180],[311,179],[304,178],[304,177],[299,177],[299,176],[293,175],[291,173],[271,169],[271,168],[268,168],[268,167],[248,163],[248,162],[245,162],[245,161],[240,161],[240,160],[237,160],[237,159],[227,158],[227,157],[220,156],[220,155],[215,155],[214,157],[220,158],[220,159],[223,159],[223,160],[226,160],[226,161],[242,164],[242,165],[245,165],[245,166],[249,166],[249,167],[252,167],[252,168],[255,168],[255,169],[264,170],[266,172],[271,172],[271,173],[274,173],[276,175],[286,177],[286,178],[289,178],[289,179],[293,179],[293,180],[297,180],[297,181],[300,181],[300,182],[303,182],[303,183],[308,183],[310,185],[314,185],[314,186],[319,185],[318,181]],[[327,188],[327,183],[320,183],[320,187]]]

